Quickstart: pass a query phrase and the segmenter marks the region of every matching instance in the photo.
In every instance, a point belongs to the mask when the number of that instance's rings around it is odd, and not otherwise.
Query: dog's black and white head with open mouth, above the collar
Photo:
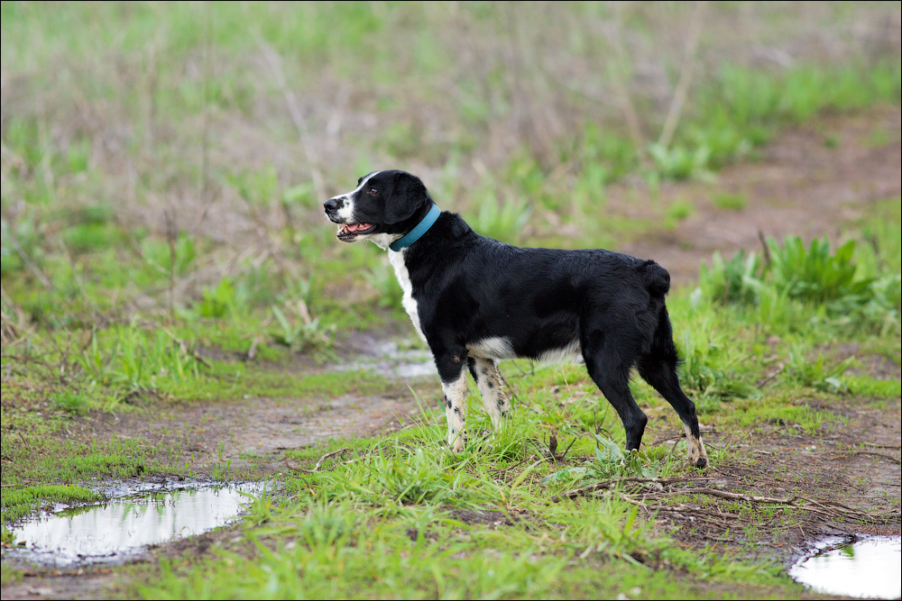
[[[323,206],[329,220],[338,223],[338,240],[373,240],[385,247],[410,232],[431,204],[419,178],[389,170],[366,174],[354,190],[329,198]]]

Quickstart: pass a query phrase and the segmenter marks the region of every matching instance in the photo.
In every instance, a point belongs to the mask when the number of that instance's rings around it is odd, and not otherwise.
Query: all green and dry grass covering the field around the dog
[[[503,241],[616,248],[703,208],[679,197],[599,219],[619,183],[653,200],[676,180],[714,187],[788,128],[899,105],[897,42],[849,25],[890,22],[897,5],[748,8],[708,7],[705,68],[662,141],[687,5],[4,3],[3,542],[14,521],[96,501],[108,481],[269,470],[278,494],[251,500],[228,534],[237,542],[214,535],[208,553],[117,571],[129,578],[120,593],[801,595],[756,555],[777,532],[765,525],[748,530],[747,550],[724,551],[688,545],[695,526],[665,527],[617,494],[548,505],[604,478],[695,474],[683,443],[624,455],[584,369],[506,364],[511,427],[491,436],[472,397],[460,456],[439,444],[431,391],[328,369],[348,332],[407,320],[382,255],[336,244],[320,213],[373,168],[427,173],[439,205]],[[824,39],[842,59],[821,56],[811,40]],[[750,50],[761,48],[794,54],[770,68]],[[882,148],[897,132],[866,137]],[[895,410],[897,379],[866,362],[899,363],[898,206],[878,205],[840,240],[715,255],[696,290],[671,295],[681,377],[706,426],[817,436],[845,419],[824,405]],[[854,358],[832,351],[841,342]],[[662,432],[679,432],[657,393],[630,386]],[[221,441],[198,465],[169,432],[106,426],[256,398],[312,411],[410,394],[423,410],[398,433],[287,451],[312,468],[349,448],[308,475],[273,477],[246,453],[233,462]],[[738,456],[709,453],[715,468]],[[21,578],[4,565],[5,584]]]

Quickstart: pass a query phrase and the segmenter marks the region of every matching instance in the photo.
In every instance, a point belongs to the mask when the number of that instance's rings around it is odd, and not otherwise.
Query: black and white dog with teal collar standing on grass
[[[639,449],[648,422],[628,386],[635,366],[683,422],[689,463],[707,465],[695,405],[676,376],[664,303],[670,275],[656,262],[494,241],[441,212],[423,182],[404,171],[373,171],[325,209],[338,240],[370,240],[389,251],[404,308],[435,357],[453,451],[466,438],[467,369],[498,428],[511,406],[499,360],[575,360],[620,415],[628,451]]]

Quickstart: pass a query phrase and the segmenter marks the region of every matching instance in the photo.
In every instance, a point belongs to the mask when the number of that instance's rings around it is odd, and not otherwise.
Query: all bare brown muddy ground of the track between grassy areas
[[[889,132],[889,142],[875,146],[872,133],[878,129]],[[828,117],[815,126],[781,135],[762,151],[759,161],[724,169],[716,184],[665,184],[658,199],[641,192],[644,188],[630,188],[629,184],[614,187],[609,206],[616,214],[640,215],[649,205],[680,198],[698,201],[697,212],[673,231],[644,235],[624,244],[621,250],[658,260],[678,285],[686,285],[697,276],[699,262],[710,257],[713,250],[728,254],[740,248],[759,249],[759,232],[775,237],[788,233],[806,238],[835,236],[842,223],[861,216],[868,203],[902,193],[899,132],[897,109]],[[745,208],[716,208],[713,195],[723,191],[744,195]],[[407,324],[398,332],[402,336],[411,333]],[[353,363],[363,357],[377,371],[388,366],[397,373],[404,361],[379,357],[372,351],[374,341],[373,335],[365,332],[343,341],[343,361]],[[833,351],[842,353],[843,349]],[[422,360],[409,362],[417,361]],[[898,366],[885,360],[869,362],[866,358],[864,364],[875,378],[900,378]],[[208,474],[211,466],[222,460],[232,460],[233,469],[276,474],[287,469],[286,450],[328,438],[388,433],[399,427],[409,419],[405,415],[418,412],[408,384],[408,378],[395,378],[388,391],[377,396],[246,398],[226,405],[170,405],[162,412],[155,408],[153,414],[96,414],[78,418],[70,431],[78,438],[115,434],[178,449],[182,461],[189,461],[201,474]],[[421,375],[415,379],[415,386],[422,393],[420,398],[433,400],[437,391],[434,378]],[[810,400],[812,405],[818,402]],[[761,496],[834,500],[875,512],[894,507],[896,517],[872,529],[898,534],[902,444],[899,399],[880,405],[850,400],[824,408],[841,414],[844,420],[831,423],[817,436],[796,432],[783,423],[764,423],[737,432],[705,432],[705,442],[713,449],[735,451],[732,459],[708,470],[706,476],[713,478],[711,486]],[[704,414],[701,419],[704,422]],[[645,440],[672,444],[668,437],[679,430],[671,412],[649,414],[649,420]],[[852,445],[857,445],[854,451],[850,451]],[[488,517],[473,516],[473,520]],[[675,534],[687,545],[714,545],[785,563],[808,551],[810,543],[822,534],[851,532],[850,524],[823,515],[809,515],[790,529],[779,527],[778,518],[754,515],[745,515],[740,522],[699,520],[678,512],[659,515],[658,519],[667,530],[668,524],[689,526]],[[750,547],[743,530],[746,526],[756,527],[763,542]],[[854,531],[861,533],[861,527],[854,527]],[[227,544],[231,537],[227,530],[208,533],[163,545],[152,555],[188,549],[202,553],[214,542]],[[115,584],[115,574],[108,568],[68,573],[37,570],[27,572],[19,583],[4,586],[3,598],[90,597],[103,594],[106,587]]]

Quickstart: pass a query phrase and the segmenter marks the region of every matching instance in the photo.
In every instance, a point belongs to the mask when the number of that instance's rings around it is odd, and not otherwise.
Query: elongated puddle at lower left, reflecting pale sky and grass
[[[133,559],[147,545],[231,524],[248,502],[241,493],[259,495],[263,489],[256,482],[228,487],[182,485],[165,490],[139,487],[143,491],[140,495],[26,520],[12,529],[15,542],[25,545],[5,554],[58,567]]]

